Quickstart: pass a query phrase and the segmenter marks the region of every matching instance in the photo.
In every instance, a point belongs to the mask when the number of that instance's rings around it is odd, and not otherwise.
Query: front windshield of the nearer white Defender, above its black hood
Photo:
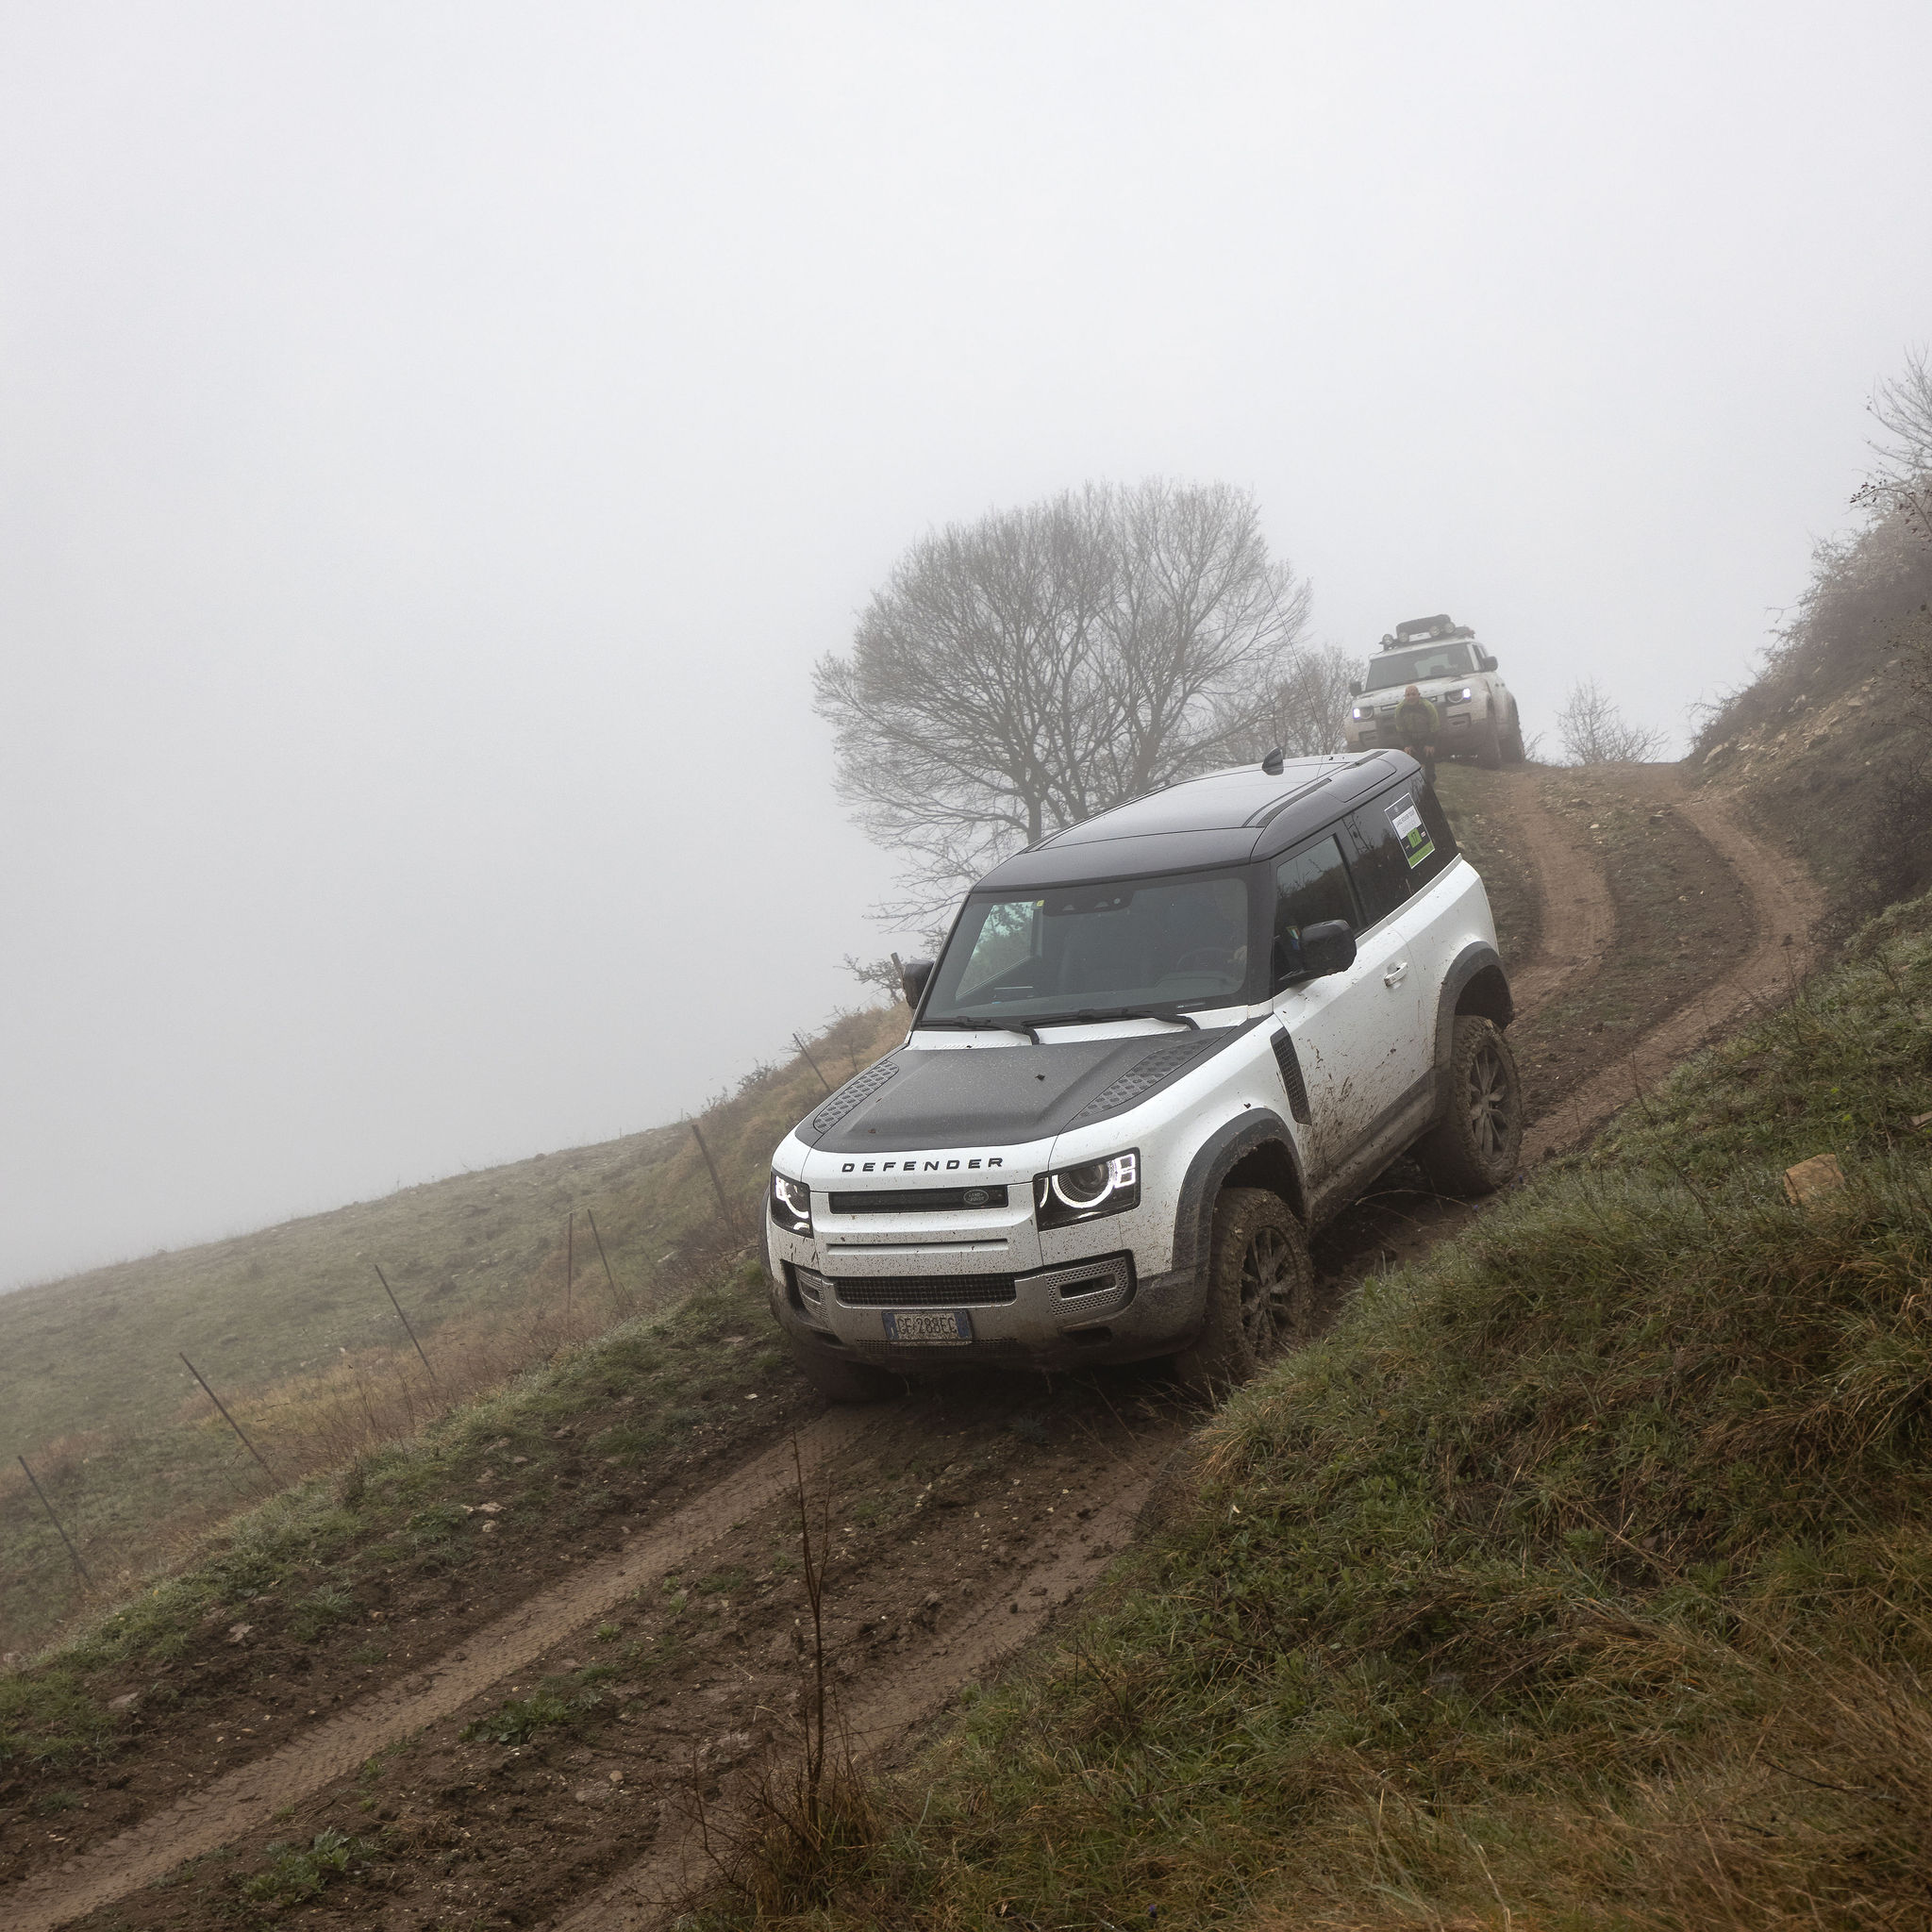
[[[970,898],[920,1024],[1213,1007],[1248,981],[1248,881],[1235,873]]]

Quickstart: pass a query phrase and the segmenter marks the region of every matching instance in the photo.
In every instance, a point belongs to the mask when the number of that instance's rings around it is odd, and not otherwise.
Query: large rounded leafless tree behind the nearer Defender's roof
[[[1088,485],[920,539],[813,670],[838,794],[929,925],[1051,831],[1235,755],[1308,618],[1246,491]]]

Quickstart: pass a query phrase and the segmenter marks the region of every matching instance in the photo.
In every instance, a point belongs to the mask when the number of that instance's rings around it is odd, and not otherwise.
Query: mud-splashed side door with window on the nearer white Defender
[[[1416,1032],[1410,976],[1385,983],[1379,945],[1358,941],[1349,972],[1300,978],[1300,929],[1321,920],[1347,920],[1358,935],[1368,923],[1337,833],[1275,866],[1275,1012],[1287,1024],[1308,1094],[1316,1182],[1343,1167],[1397,1107],[1410,1080]],[[1283,1068],[1285,1086],[1289,1078]]]

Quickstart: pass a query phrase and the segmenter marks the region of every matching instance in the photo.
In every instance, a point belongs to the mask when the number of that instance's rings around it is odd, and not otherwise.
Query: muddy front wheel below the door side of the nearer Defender
[[[1213,1208],[1208,1321],[1175,1356],[1196,1395],[1225,1395],[1264,1362],[1308,1341],[1316,1269],[1289,1204],[1265,1188],[1223,1188]]]

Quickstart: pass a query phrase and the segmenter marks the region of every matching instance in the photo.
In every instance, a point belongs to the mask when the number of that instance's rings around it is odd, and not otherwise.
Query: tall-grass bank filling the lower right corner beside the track
[[[800,1922],[1922,1926],[1926,1111],[1918,900],[1242,1391]]]

